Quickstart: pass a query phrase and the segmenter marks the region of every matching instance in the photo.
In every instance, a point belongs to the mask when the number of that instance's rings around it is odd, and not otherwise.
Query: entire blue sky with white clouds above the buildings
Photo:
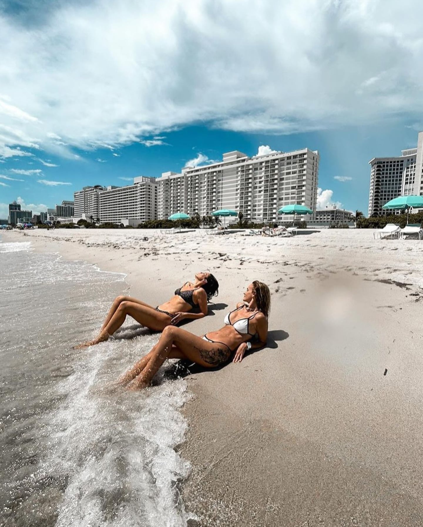
[[[367,214],[423,130],[417,0],[0,0],[0,218],[239,150],[320,154]]]

